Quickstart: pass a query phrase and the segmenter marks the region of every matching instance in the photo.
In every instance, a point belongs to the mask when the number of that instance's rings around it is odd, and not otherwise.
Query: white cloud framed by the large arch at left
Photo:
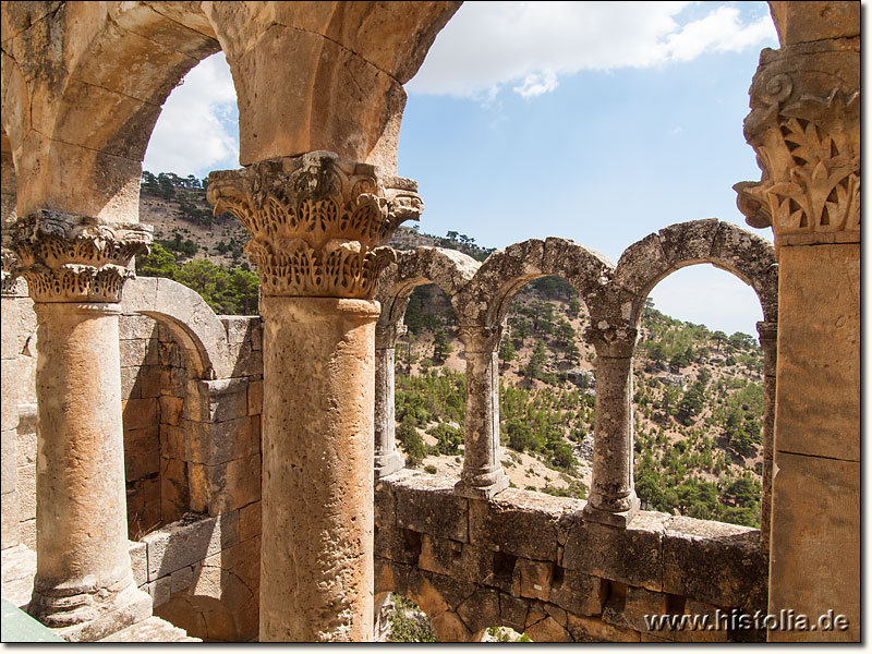
[[[205,177],[239,166],[237,93],[222,52],[204,59],[185,75],[164,105],[145,153],[143,168]]]

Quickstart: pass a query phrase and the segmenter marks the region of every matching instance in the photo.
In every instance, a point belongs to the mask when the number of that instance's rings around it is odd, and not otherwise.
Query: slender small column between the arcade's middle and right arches
[[[639,510],[633,481],[633,366],[635,329],[590,327],[596,350],[593,475],[584,519],[627,526]]]

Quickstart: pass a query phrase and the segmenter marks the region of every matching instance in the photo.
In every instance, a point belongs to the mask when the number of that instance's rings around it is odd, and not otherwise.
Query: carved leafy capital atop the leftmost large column
[[[148,254],[152,227],[99,225],[95,219],[43,209],[10,229],[19,257],[14,274],[36,302],[119,302],[128,268]]]

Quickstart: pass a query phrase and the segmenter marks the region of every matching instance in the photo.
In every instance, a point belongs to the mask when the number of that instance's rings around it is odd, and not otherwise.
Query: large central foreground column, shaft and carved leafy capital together
[[[372,299],[415,191],[326,152],[209,175],[261,274],[262,641],[372,640]]]

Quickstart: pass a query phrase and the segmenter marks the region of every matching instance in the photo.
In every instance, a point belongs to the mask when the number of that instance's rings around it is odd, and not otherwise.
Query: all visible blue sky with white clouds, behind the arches
[[[492,247],[564,237],[617,262],[674,222],[751,229],[731,186],[760,179],[741,130],[764,47],[777,47],[764,2],[464,3],[407,85],[399,172],[419,181],[421,231]],[[238,167],[234,99],[223,56],[202,62],[165,105],[145,169]],[[711,266],[652,296],[728,334],[762,317]]]

